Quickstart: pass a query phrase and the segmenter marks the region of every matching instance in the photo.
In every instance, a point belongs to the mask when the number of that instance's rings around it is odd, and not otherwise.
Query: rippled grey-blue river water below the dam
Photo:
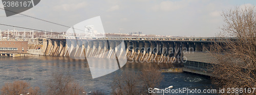
[[[95,60],[97,62],[101,61],[101,59]],[[45,92],[46,80],[50,79],[52,73],[65,72],[71,74],[75,81],[84,87],[87,92],[97,89],[110,94],[114,76],[120,71],[132,70],[139,72],[148,66],[167,67],[167,65],[158,65],[157,63],[127,62],[115,72],[93,79],[90,66],[85,60],[49,56],[0,57],[0,87],[7,82],[23,80],[29,82],[31,86],[40,87],[41,91]],[[162,75],[164,75],[164,79],[159,88],[173,85],[173,89],[207,89],[212,86],[210,79],[199,75],[187,73],[164,73]]]

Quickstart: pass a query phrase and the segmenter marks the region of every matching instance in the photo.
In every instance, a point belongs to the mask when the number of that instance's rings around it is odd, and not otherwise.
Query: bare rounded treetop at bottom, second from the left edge
[[[83,88],[78,83],[74,82],[74,79],[70,74],[54,73],[52,78],[46,81],[48,89],[47,94],[83,94]]]

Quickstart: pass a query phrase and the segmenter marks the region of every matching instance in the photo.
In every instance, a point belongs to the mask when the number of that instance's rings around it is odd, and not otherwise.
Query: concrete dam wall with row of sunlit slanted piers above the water
[[[202,51],[208,43],[150,40],[45,39],[41,50],[46,56],[127,59],[173,63],[182,61],[186,51]]]

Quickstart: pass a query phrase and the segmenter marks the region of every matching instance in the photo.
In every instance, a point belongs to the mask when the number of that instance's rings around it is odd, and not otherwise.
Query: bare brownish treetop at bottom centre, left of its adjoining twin
[[[113,94],[139,94],[139,75],[133,71],[125,70],[116,75],[113,84]]]

